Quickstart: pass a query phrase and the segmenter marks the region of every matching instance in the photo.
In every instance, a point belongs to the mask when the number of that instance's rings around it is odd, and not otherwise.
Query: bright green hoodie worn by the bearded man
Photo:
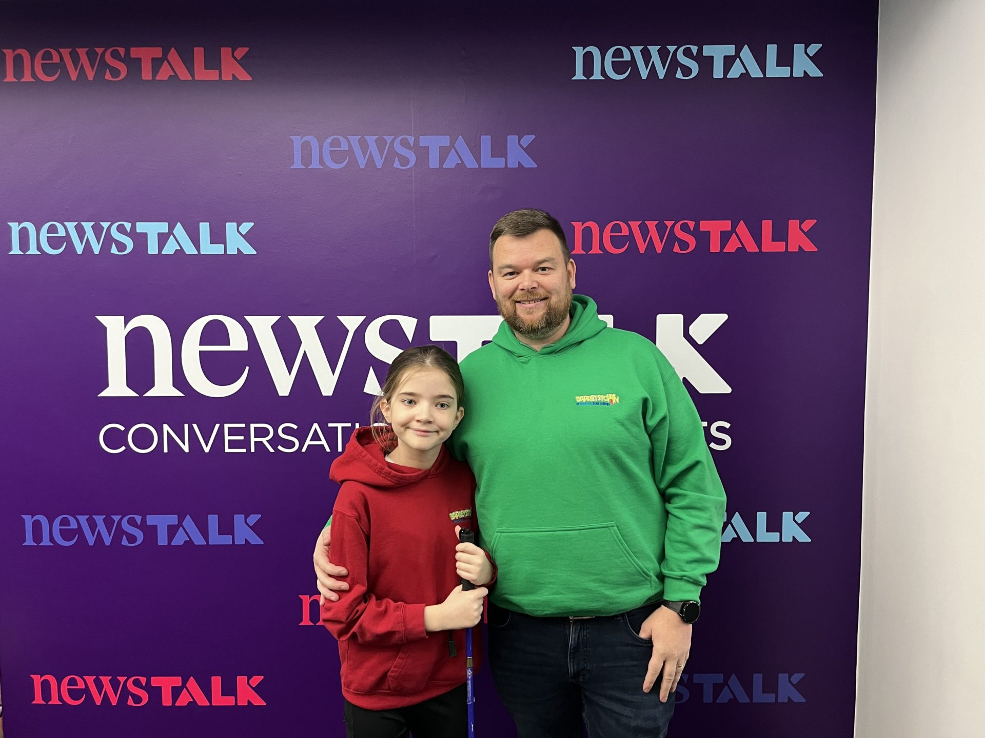
[[[646,338],[573,295],[571,325],[535,351],[502,323],[462,361],[453,453],[477,480],[480,544],[501,607],[615,615],[699,599],[718,566],[725,492],[688,392]]]

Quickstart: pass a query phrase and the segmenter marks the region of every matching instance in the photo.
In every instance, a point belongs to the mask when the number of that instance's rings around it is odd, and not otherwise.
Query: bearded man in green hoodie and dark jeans
[[[496,222],[489,283],[503,323],[462,361],[468,407],[449,444],[475,472],[500,572],[496,688],[522,738],[577,738],[583,721],[592,738],[664,736],[725,510],[700,419],[650,341],[572,295],[551,215]],[[330,534],[314,560],[335,598]]]

